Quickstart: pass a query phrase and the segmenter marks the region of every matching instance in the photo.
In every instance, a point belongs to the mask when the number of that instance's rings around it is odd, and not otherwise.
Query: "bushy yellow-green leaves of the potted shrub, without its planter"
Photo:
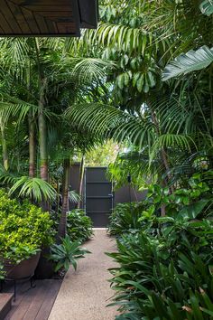
[[[0,190],[0,251],[18,262],[29,258],[52,242],[52,221],[48,212],[24,201],[12,200]]]

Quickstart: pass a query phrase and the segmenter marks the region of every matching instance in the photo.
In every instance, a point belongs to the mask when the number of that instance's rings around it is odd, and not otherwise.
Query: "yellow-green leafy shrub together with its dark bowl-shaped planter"
[[[0,190],[0,259],[5,278],[32,277],[40,251],[53,239],[48,212],[28,201],[12,200]]]

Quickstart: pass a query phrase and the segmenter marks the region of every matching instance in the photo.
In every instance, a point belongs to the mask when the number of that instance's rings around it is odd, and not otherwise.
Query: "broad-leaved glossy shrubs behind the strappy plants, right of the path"
[[[108,227],[112,235],[144,230],[154,234],[160,221],[169,223],[179,236],[179,227],[190,228],[193,220],[212,216],[212,171],[193,174],[188,187],[178,188],[171,193],[169,187],[153,184],[148,188],[143,202],[118,203],[110,216]],[[166,217],[159,218],[162,206]],[[192,220],[192,221],[191,221]],[[177,228],[176,228],[177,227]],[[193,233],[191,231],[191,233]]]

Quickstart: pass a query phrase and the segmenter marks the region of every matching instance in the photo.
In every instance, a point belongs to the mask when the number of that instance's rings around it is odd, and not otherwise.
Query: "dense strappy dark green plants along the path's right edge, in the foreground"
[[[109,254],[119,264],[110,269],[116,290],[113,305],[122,313],[117,319],[211,318],[212,223],[196,226],[203,232],[201,240],[196,232],[194,241],[188,239],[185,227],[179,226],[184,237],[164,227],[167,232],[160,236],[141,231],[117,240],[118,252]],[[177,241],[172,242],[173,235]]]

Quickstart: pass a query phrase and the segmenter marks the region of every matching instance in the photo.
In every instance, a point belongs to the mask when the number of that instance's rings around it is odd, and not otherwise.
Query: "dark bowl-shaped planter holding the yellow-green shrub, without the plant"
[[[5,278],[18,280],[22,278],[30,278],[34,274],[38,265],[41,253],[38,252],[29,259],[25,259],[18,264],[14,264],[11,260],[4,260]]]

